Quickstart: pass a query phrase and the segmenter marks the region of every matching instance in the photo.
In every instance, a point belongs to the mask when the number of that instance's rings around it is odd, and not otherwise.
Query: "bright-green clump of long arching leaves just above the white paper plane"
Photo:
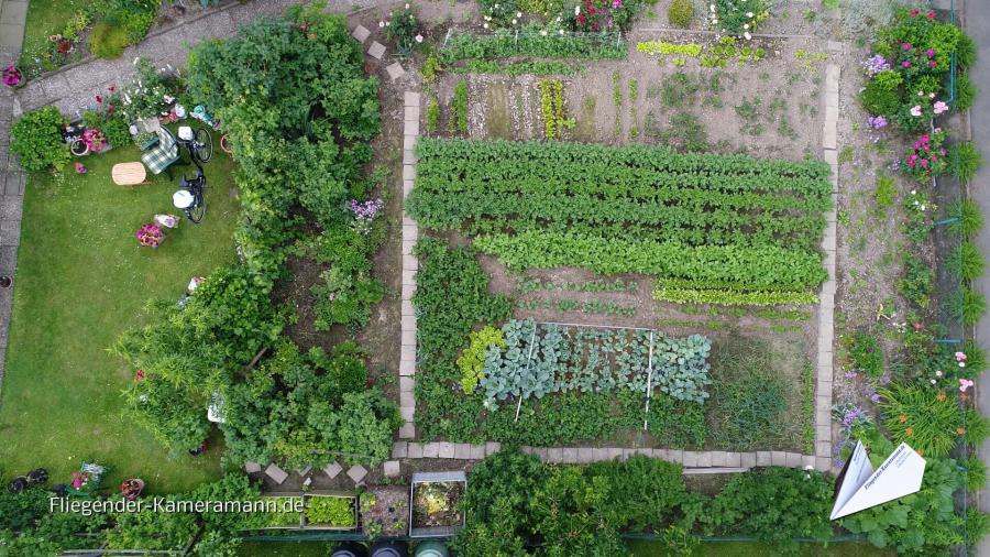
[[[894,444],[906,443],[925,457],[939,458],[967,434],[955,396],[902,383],[880,391],[880,395],[883,425]]]

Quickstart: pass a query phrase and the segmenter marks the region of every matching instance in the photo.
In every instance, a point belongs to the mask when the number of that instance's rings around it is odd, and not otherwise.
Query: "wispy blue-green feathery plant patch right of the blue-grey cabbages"
[[[707,425],[715,444],[751,450],[777,441],[784,429],[788,386],[773,350],[763,342],[734,337],[716,350],[713,369]]]

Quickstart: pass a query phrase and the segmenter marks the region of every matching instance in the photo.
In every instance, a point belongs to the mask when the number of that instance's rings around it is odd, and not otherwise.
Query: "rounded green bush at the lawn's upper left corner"
[[[58,109],[44,107],[25,113],[10,130],[10,151],[26,171],[61,168],[69,161],[68,145],[62,141],[64,121]]]

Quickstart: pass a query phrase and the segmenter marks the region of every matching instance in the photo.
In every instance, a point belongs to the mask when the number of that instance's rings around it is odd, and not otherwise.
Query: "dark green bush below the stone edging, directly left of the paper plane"
[[[711,527],[795,547],[795,537],[832,537],[833,485],[811,470],[767,468],[733,477],[710,506]]]

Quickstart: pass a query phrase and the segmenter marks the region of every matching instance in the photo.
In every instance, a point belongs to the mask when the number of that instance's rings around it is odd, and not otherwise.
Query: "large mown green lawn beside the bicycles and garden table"
[[[217,443],[198,458],[169,458],[145,429],[124,419],[120,392],[134,370],[107,348],[124,329],[145,323],[148,298],[178,299],[191,276],[234,260],[233,163],[216,149],[206,166],[204,222],[183,217],[162,247],[151,249],[138,245],[138,227],[156,212],[177,214],[174,184],[194,167],[174,166],[174,181],[163,173],[151,185],[110,181],[114,163],[139,160],[128,145],[82,159],[86,175],[69,171],[28,181],[0,391],[2,477],[44,467],[59,482],[81,460],[98,461],[110,469],[105,487],[141,477],[150,492],[162,493],[220,473]]]

